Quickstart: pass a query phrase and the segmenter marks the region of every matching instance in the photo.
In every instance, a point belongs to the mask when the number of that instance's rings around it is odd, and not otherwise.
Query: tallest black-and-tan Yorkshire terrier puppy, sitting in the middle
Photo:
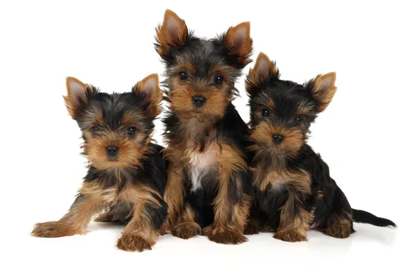
[[[156,31],[170,103],[164,199],[171,233],[189,239],[203,232],[217,243],[242,243],[250,209],[249,130],[232,99],[238,93],[234,83],[250,62],[250,23],[207,40],[166,10]]]

